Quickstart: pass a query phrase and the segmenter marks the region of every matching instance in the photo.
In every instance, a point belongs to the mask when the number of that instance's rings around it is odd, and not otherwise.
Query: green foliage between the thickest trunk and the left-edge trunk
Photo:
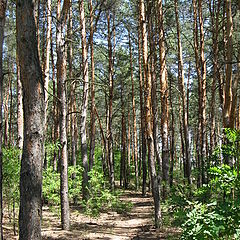
[[[3,148],[3,197],[10,205],[19,200],[20,154],[16,147]]]

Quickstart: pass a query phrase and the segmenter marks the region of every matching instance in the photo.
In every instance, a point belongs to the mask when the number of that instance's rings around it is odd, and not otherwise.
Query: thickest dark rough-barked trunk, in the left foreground
[[[24,107],[20,172],[19,239],[41,239],[41,189],[44,153],[44,86],[37,49],[34,4],[17,1],[17,48]]]

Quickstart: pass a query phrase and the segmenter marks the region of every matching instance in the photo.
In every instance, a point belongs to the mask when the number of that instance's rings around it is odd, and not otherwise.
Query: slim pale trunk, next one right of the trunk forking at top
[[[84,1],[79,2],[80,23],[81,23],[81,39],[82,39],[82,67],[83,67],[83,97],[82,97],[82,113],[81,113],[81,154],[83,162],[83,182],[82,194],[83,199],[88,200],[88,155],[87,155],[87,107],[88,107],[88,59],[87,59],[87,42]]]

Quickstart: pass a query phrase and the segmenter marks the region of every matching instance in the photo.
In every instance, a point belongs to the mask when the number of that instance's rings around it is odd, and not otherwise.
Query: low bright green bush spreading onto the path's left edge
[[[131,203],[120,200],[119,192],[111,192],[101,172],[92,169],[89,173],[89,200],[84,202],[87,215],[98,216],[100,212],[109,209],[117,212],[129,211]]]

